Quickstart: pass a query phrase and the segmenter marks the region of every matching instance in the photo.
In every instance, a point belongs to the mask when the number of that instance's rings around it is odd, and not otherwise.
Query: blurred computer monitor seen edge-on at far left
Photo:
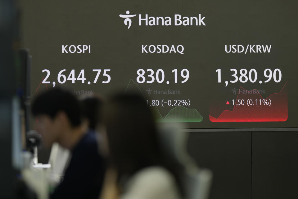
[[[30,73],[31,56],[28,49],[20,49],[14,56],[15,69],[15,97],[12,106],[12,164],[14,168],[21,169],[22,150],[26,149],[27,133],[29,132],[30,118]]]

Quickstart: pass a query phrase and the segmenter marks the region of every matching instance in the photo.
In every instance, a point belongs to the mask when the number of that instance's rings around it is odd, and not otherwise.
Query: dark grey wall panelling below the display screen
[[[188,151],[214,173],[210,199],[298,198],[297,132],[190,132]]]

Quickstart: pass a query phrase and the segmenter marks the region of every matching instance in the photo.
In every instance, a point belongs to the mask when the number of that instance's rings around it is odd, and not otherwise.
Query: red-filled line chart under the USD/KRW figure
[[[288,118],[287,82],[280,92],[267,98],[256,90],[246,90],[240,86],[233,110],[224,110],[219,117],[212,116],[213,108],[209,109],[211,122],[282,122]],[[243,104],[239,104],[243,102]],[[269,103],[270,102],[270,103]],[[225,103],[225,102],[224,102]]]

